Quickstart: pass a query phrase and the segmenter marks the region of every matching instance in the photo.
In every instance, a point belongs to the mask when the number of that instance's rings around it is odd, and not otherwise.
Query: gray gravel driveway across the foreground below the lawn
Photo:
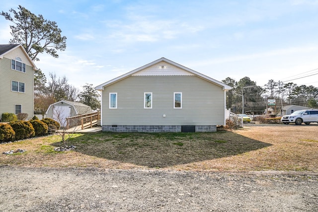
[[[0,211],[317,212],[317,173],[0,167]]]

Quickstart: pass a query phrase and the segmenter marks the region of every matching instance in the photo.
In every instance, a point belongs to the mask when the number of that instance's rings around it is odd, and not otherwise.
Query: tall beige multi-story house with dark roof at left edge
[[[0,45],[0,119],[4,112],[33,117],[34,70],[21,44]]]

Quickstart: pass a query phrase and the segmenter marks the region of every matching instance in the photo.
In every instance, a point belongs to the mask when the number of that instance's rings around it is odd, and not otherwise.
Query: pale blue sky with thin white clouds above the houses
[[[318,87],[318,0],[10,0],[0,10],[19,4],[67,37],[59,58],[39,55],[36,66],[79,89],[161,57],[218,81]],[[9,25],[0,16],[1,44]]]

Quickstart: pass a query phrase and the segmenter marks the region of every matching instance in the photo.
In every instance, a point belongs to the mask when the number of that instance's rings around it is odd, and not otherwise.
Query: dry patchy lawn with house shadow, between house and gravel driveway
[[[75,151],[55,152],[59,136],[0,145],[0,165],[199,171],[318,171],[317,125],[253,126],[216,133],[77,134]],[[304,132],[304,133],[303,133]]]

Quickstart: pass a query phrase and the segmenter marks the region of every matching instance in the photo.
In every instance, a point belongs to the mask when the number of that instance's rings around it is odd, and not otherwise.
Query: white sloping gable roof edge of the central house
[[[203,75],[203,74],[201,74],[201,73],[199,73],[199,72],[196,72],[196,71],[194,71],[194,70],[192,70],[192,69],[189,69],[189,68],[187,68],[187,67],[185,67],[185,66],[182,66],[182,65],[180,65],[180,64],[178,64],[178,63],[175,63],[175,62],[173,62],[173,61],[171,61],[171,60],[168,60],[168,59],[166,59],[166,58],[164,58],[164,57],[162,57],[162,58],[160,58],[160,59],[158,59],[158,60],[155,60],[154,62],[151,62],[151,63],[149,63],[149,64],[147,64],[147,65],[144,65],[144,66],[142,66],[142,67],[140,67],[140,68],[138,68],[138,69],[135,69],[135,70],[133,70],[133,71],[131,71],[131,72],[128,72],[128,73],[126,73],[126,74],[124,74],[124,75],[122,75],[122,76],[119,76],[119,77],[117,77],[117,78],[115,78],[115,79],[112,79],[112,80],[110,80],[110,81],[108,81],[108,82],[106,82],[106,83],[103,83],[103,84],[101,84],[101,85],[99,85],[99,86],[96,86],[95,89],[96,89],[96,90],[99,90],[99,91],[102,91],[102,90],[104,90],[104,87],[106,87],[106,86],[108,86],[108,85],[111,85],[111,84],[113,84],[113,83],[116,83],[116,82],[118,82],[118,81],[120,81],[120,80],[123,80],[123,79],[125,79],[125,78],[127,78],[127,77],[130,77],[130,76],[132,76],[133,74],[135,74],[136,72],[139,72],[139,71],[141,71],[141,70],[144,70],[144,69],[146,69],[146,68],[148,68],[148,67],[150,67],[150,66],[153,66],[153,65],[155,65],[155,64],[157,64],[157,63],[159,63],[159,62],[162,62],[162,61],[163,61],[163,62],[166,62],[166,63],[169,63],[169,64],[172,64],[172,65],[174,65],[174,66],[176,66],[176,67],[178,67],[178,68],[180,68],[180,69],[183,69],[183,70],[185,70],[185,71],[187,71],[187,72],[190,72],[190,73],[194,74],[195,76],[200,77],[200,78],[202,78],[202,79],[205,79],[205,80],[207,80],[207,81],[209,81],[209,82],[211,82],[211,83],[213,83],[213,84],[216,84],[216,85],[222,87],[223,90],[225,90],[225,91],[228,91],[228,90],[231,90],[231,89],[232,89],[231,86],[228,86],[228,85],[226,85],[226,84],[224,84],[224,83],[221,83],[221,82],[219,82],[219,81],[217,81],[217,80],[215,80],[215,79],[212,79],[212,78],[210,78],[210,77],[208,77],[208,76],[205,76],[205,75]]]

